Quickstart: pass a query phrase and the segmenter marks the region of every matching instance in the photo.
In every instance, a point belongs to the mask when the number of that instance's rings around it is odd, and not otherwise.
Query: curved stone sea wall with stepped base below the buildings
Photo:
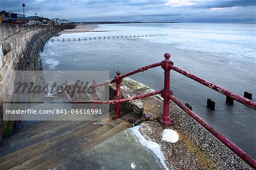
[[[13,96],[16,70],[42,69],[38,52],[57,32],[74,26],[20,26],[0,23],[0,139],[8,134],[15,122],[3,122],[3,102]]]

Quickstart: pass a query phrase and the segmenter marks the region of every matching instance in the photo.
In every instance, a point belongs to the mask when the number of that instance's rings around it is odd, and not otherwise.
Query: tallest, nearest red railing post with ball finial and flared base
[[[164,69],[164,89],[161,90],[161,96],[164,99],[164,110],[163,115],[158,119],[163,124],[163,126],[173,125],[175,122],[170,118],[170,95],[172,95],[172,91],[170,90],[170,71],[171,66],[174,65],[172,61],[170,61],[171,55],[169,53],[165,53],[165,60],[162,61],[162,68]]]

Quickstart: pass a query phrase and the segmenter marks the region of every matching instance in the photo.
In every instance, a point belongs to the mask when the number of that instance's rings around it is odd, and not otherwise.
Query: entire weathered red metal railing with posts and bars
[[[226,90],[224,88],[221,88],[220,86],[214,85],[212,82],[209,82],[207,80],[204,80],[203,78],[197,77],[189,72],[183,71],[180,68],[177,68],[174,66],[172,61],[170,61],[171,55],[169,53],[164,54],[165,60],[163,60],[161,63],[155,63],[151,65],[147,65],[145,67],[139,68],[133,72],[123,74],[120,76],[120,72],[117,72],[117,76],[115,76],[112,80],[109,82],[105,82],[103,84],[96,84],[95,81],[93,81],[92,86],[96,88],[97,86],[102,86],[102,85],[108,85],[112,84],[113,82],[116,82],[117,87],[116,87],[116,95],[113,100],[110,101],[96,101],[96,91],[94,90],[94,93],[92,94],[92,100],[89,101],[74,101],[69,97],[67,90],[70,89],[65,89],[64,93],[67,95],[69,101],[72,103],[109,103],[109,104],[114,104],[115,105],[115,117],[119,118],[120,116],[120,103],[126,102],[126,101],[131,101],[134,99],[141,99],[149,96],[154,96],[156,94],[161,94],[163,97],[163,102],[164,102],[164,109],[163,109],[163,115],[159,117],[159,121],[163,124],[163,126],[170,126],[173,125],[175,122],[170,118],[170,99],[175,102],[181,109],[185,111],[189,116],[191,116],[195,121],[197,121],[201,126],[206,128],[211,134],[213,134],[220,142],[224,143],[230,150],[232,150],[235,154],[237,154],[242,160],[244,160],[247,164],[249,164],[251,167],[255,169],[256,167],[256,161],[251,158],[249,155],[247,155],[245,152],[243,152],[239,147],[237,147],[234,143],[232,143],[229,139],[225,138],[220,132],[214,130],[213,127],[211,127],[207,122],[205,122],[203,119],[201,119],[198,115],[193,113],[192,110],[188,109],[186,106],[184,106],[180,101],[178,101],[174,96],[172,96],[172,91],[170,90],[170,71],[174,70],[178,73],[183,74],[184,76],[187,76],[191,78],[192,80],[195,80],[199,82],[200,84],[203,84],[205,86],[208,86],[208,88],[211,88],[213,90],[216,90],[217,92],[224,94],[225,96],[228,96],[243,105],[249,106],[252,109],[256,110],[256,102],[251,101],[250,99],[247,99],[245,97],[242,97],[236,93],[230,92],[229,90]],[[143,72],[146,71],[147,69],[154,68],[154,67],[159,67],[161,66],[164,69],[164,88],[163,90],[159,90],[156,92],[151,92],[151,93],[145,93],[145,94],[140,94],[135,97],[130,97],[130,98],[123,98],[121,99],[120,95],[120,86],[122,82],[122,78],[125,78],[127,76],[131,76],[135,73],[138,72]]]

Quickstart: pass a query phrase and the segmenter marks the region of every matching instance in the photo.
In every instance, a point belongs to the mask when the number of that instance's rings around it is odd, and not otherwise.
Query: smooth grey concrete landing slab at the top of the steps
[[[53,170],[164,168],[158,157],[142,146],[130,129],[126,129],[65,161]]]

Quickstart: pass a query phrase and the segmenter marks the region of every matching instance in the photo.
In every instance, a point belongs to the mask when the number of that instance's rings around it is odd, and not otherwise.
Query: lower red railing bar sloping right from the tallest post
[[[214,135],[220,142],[225,144],[230,150],[232,150],[235,154],[237,154],[242,160],[244,160],[247,164],[255,169],[256,161],[247,155],[243,150],[236,146],[236,144],[232,143],[228,138],[225,138],[220,132],[216,131],[212,126],[210,126],[207,122],[201,119],[198,115],[196,115],[192,110],[188,109],[187,106],[184,106],[179,100],[177,100],[174,96],[169,96],[171,101],[175,102],[182,110],[185,111],[190,117],[195,119],[201,126],[207,129],[212,135]]]

